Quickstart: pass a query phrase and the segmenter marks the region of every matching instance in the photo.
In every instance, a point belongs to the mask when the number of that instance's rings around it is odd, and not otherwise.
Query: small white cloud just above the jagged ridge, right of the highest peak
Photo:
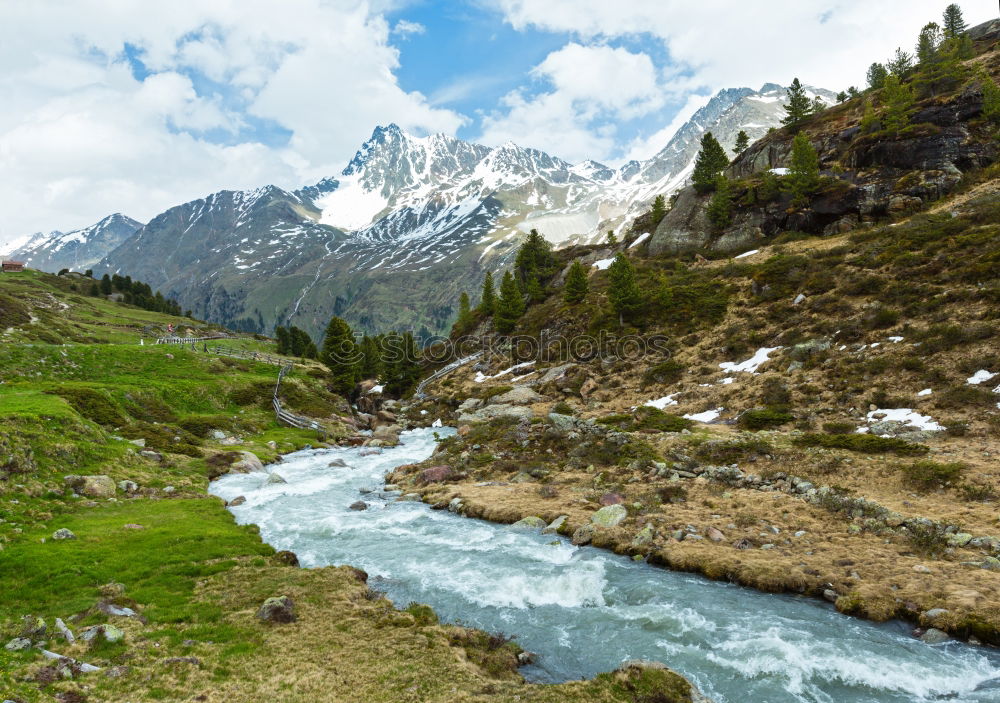
[[[570,161],[610,158],[616,123],[658,110],[665,97],[649,56],[599,44],[567,44],[532,76],[549,89],[504,96],[502,109],[483,118],[483,142],[515,141]]]

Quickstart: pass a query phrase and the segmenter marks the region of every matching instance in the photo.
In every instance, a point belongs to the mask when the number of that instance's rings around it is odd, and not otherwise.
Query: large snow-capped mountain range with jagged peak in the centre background
[[[659,153],[620,168],[378,127],[339,175],[171,208],[98,268],[248,330],[295,324],[318,335],[338,314],[366,331],[442,333],[459,293],[475,297],[530,229],[561,246],[625,228],[685,182],[706,131],[729,149],[741,129],[756,139],[778,125],[784,103],[775,84],[721,91]]]

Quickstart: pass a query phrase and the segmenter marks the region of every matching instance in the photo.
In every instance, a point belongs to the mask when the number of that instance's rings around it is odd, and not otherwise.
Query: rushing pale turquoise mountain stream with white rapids
[[[449,429],[439,433],[451,432]],[[470,520],[377,492],[387,471],[433,451],[432,430],[404,433],[375,456],[296,452],[211,491],[303,566],[351,564],[397,604],[428,603],[442,620],[516,636],[531,680],[590,677],[625,659],[655,659],[719,703],[1000,702],[1000,655],[926,645],[902,623],[874,624],[825,603],[765,595],[675,573],[563,538]],[[350,468],[328,466],[344,459]],[[358,499],[368,510],[348,506]]]

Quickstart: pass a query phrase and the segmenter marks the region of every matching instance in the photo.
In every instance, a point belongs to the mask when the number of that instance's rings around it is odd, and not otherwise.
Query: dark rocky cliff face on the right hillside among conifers
[[[995,55],[995,54],[994,54]],[[723,229],[709,223],[710,196],[685,188],[650,238],[648,251],[737,252],[781,232],[832,234],[919,208],[953,190],[962,174],[1000,156],[993,128],[978,116],[982,91],[972,81],[942,100],[917,106],[911,126],[900,135],[862,134],[863,100],[855,99],[812,118],[802,131],[819,156],[821,186],[808,204],[792,205],[787,192],[767,201],[760,196],[760,175],[790,165],[793,133],[781,129],[752,144],[730,166],[735,180],[732,222]]]

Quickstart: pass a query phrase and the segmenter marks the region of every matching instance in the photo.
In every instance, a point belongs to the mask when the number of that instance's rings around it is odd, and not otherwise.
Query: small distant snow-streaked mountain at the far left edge
[[[115,213],[90,227],[72,232],[36,232],[11,242],[0,254],[42,271],[55,272],[64,268],[85,271],[140,227],[142,223],[138,220]]]

